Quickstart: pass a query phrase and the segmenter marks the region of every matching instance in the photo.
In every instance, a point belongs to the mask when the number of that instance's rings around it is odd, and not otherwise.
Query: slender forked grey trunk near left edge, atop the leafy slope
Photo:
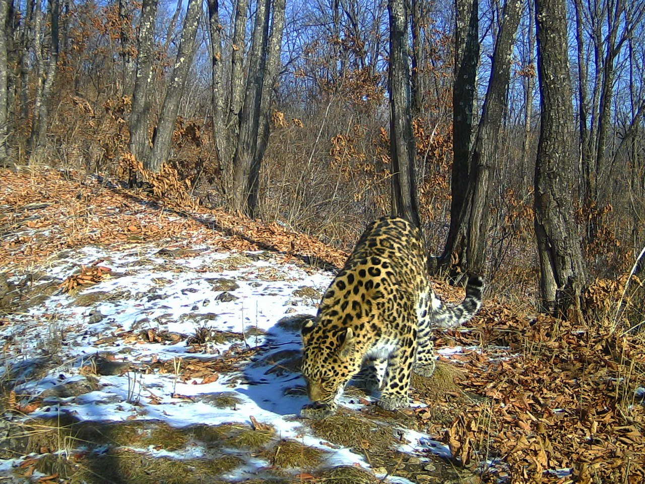
[[[38,2],[37,2],[38,4]],[[40,71],[43,72],[43,77],[39,78],[40,88],[37,90],[36,102],[34,105],[34,124],[32,125],[32,133],[30,137],[30,161],[34,157],[39,155],[41,149],[46,145],[47,141],[47,123],[48,123],[48,114],[49,114],[49,98],[52,94],[52,86],[54,85],[54,80],[56,76],[56,70],[58,65],[58,53],[59,53],[59,32],[58,32],[58,21],[60,17],[60,0],[50,0],[50,22],[51,22],[51,32],[50,32],[50,48],[49,55],[47,59],[46,70],[43,60],[42,52],[40,54],[39,66],[41,66]],[[40,10],[39,6],[36,6],[37,10]],[[37,12],[37,16],[40,12]],[[39,20],[37,19],[37,23]],[[39,26],[38,26],[39,27]],[[37,38],[40,38],[39,28],[36,28],[35,35]],[[37,47],[41,48],[41,42],[37,41]],[[40,49],[39,49],[40,50]],[[38,56],[38,54],[37,54]]]

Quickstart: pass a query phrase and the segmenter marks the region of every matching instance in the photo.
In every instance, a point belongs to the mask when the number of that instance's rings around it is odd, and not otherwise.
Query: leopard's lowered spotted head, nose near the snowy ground
[[[304,321],[303,365],[307,394],[312,401],[326,403],[338,396],[361,368],[352,328],[330,331],[313,319]]]

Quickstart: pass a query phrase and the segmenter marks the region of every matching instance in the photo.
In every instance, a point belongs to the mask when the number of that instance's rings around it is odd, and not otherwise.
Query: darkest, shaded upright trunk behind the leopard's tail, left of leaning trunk
[[[441,267],[450,264],[453,252],[463,254],[464,239],[459,237],[459,216],[466,203],[470,176],[470,149],[473,133],[475,77],[479,61],[479,3],[455,0],[455,74],[452,91],[453,163],[450,191],[450,229],[441,256]]]

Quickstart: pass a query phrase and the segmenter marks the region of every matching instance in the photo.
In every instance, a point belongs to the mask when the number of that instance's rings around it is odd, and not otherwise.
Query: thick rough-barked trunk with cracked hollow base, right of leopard
[[[586,280],[571,195],[575,138],[566,12],[566,0],[536,1],[542,118],[535,161],[535,234],[541,309],[581,318],[579,296]]]

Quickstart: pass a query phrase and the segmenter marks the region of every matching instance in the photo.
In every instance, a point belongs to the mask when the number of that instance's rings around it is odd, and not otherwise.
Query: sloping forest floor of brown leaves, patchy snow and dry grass
[[[609,323],[487,294],[410,408],[310,421],[299,324],[346,252],[52,169],[0,171],[0,239],[5,482],[645,479],[645,345]]]

